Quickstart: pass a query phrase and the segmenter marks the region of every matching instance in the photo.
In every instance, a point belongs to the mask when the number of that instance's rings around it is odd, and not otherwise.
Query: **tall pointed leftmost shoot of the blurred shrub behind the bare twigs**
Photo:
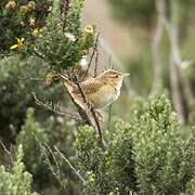
[[[25,152],[23,159],[26,169],[34,176],[36,182],[40,184],[41,181],[49,181],[50,174],[47,166],[43,164],[44,157],[36,138],[41,142],[49,142],[46,130],[34,118],[34,109],[28,108],[25,123],[17,135],[16,143],[17,145],[23,144]]]

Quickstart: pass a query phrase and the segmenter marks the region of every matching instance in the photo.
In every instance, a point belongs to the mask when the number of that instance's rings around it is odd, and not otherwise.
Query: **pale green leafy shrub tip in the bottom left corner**
[[[31,192],[31,174],[25,171],[23,146],[18,145],[16,160],[9,172],[0,166],[0,193],[3,195],[38,195]]]

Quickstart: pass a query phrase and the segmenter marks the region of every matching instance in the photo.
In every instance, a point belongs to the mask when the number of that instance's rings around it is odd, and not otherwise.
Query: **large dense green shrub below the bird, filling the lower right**
[[[90,173],[92,191],[100,194],[193,192],[194,130],[184,139],[166,96],[135,112],[129,125],[118,122],[106,135],[109,143],[106,152],[98,146],[91,128],[83,127],[77,135],[77,157],[82,169]]]

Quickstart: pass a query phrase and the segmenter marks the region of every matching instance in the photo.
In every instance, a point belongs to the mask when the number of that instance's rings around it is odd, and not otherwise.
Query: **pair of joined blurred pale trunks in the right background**
[[[184,104],[184,101],[187,104],[191,104],[193,100],[193,94],[190,84],[186,80],[186,77],[184,76],[184,73],[181,69],[182,57],[179,49],[179,2],[178,0],[172,0],[170,2],[170,17],[168,17],[168,14],[166,13],[167,5],[167,1],[156,0],[158,23],[153,42],[155,75],[151,95],[155,95],[157,91],[156,84],[160,78],[161,61],[159,55],[159,43],[161,41],[161,35],[165,28],[170,41],[169,68],[172,102],[177,113],[179,114],[181,123],[184,123],[186,121],[186,105]]]

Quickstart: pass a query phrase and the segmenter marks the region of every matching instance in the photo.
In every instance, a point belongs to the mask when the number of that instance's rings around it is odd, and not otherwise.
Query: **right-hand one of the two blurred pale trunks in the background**
[[[179,2],[177,0],[172,0],[170,2],[170,10],[171,10],[171,17],[170,22],[165,15],[165,26],[167,29],[167,32],[169,35],[170,44],[171,44],[171,54],[170,54],[170,80],[172,81],[171,88],[172,88],[172,101],[176,107],[176,110],[179,113],[179,117],[181,120],[181,123],[184,123],[186,121],[186,107],[183,104],[183,100],[186,101],[186,103],[190,105],[193,101],[193,93],[191,90],[191,87],[186,80],[186,77],[184,76],[184,73],[182,70],[182,57],[179,49]],[[173,73],[173,70],[176,73]],[[174,76],[174,74],[177,74]],[[174,79],[173,79],[173,78]],[[181,88],[182,86],[182,88]],[[182,89],[182,90],[181,90]]]

